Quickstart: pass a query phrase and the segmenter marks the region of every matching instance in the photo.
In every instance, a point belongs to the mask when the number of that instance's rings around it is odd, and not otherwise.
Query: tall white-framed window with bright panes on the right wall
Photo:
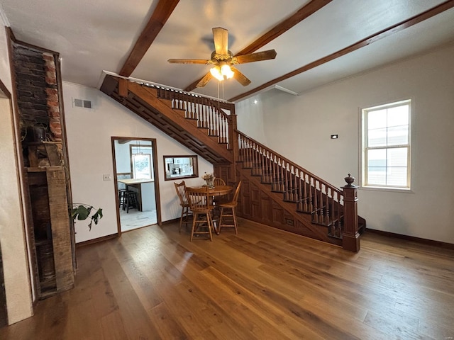
[[[362,110],[362,186],[410,189],[411,101]]]

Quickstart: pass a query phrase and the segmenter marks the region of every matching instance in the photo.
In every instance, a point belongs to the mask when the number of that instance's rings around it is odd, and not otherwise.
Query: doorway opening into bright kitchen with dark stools
[[[118,234],[161,225],[156,140],[112,137]]]

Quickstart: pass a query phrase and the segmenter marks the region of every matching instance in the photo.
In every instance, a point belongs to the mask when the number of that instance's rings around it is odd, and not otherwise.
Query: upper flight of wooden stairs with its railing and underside
[[[106,75],[101,91],[212,164],[234,164],[235,105]]]

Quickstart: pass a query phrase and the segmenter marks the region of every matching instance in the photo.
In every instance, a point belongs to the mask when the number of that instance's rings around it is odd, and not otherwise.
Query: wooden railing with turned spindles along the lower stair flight
[[[250,169],[252,176],[259,176],[261,183],[271,186],[272,192],[282,193],[284,201],[295,203],[297,212],[311,215],[312,223],[327,227],[329,237],[343,239],[343,191],[242,132],[236,132],[238,161],[242,162],[243,169]],[[357,233],[358,230],[353,232],[355,236]]]

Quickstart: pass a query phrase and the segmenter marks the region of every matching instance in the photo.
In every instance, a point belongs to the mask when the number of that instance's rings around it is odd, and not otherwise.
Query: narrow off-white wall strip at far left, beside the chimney
[[[5,28],[0,24],[0,81],[11,94],[11,71]],[[0,98],[0,243],[9,324],[33,314],[22,200],[15,157],[11,105]]]

